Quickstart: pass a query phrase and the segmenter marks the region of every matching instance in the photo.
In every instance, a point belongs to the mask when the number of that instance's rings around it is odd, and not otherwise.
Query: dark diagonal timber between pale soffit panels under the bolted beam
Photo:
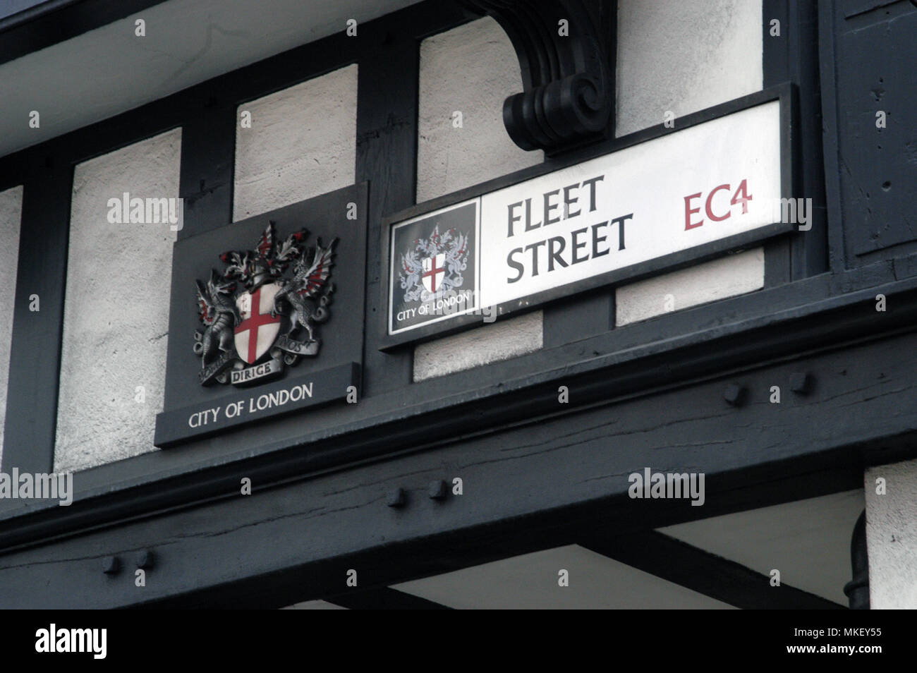
[[[743,610],[844,610],[845,606],[770,578],[657,531],[587,537],[580,546]]]

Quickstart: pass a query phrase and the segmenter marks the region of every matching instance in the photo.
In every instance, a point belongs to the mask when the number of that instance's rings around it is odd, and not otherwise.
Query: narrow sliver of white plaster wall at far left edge
[[[22,187],[0,192],[0,459],[3,458],[3,427],[6,417],[6,384],[9,382],[9,348],[13,337],[13,303],[19,259],[19,222],[22,216]]]

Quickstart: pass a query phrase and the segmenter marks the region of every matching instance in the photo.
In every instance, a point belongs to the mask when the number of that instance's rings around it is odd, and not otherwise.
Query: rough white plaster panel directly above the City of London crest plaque
[[[353,184],[357,66],[239,105],[233,221]],[[238,117],[240,118],[240,117]]]

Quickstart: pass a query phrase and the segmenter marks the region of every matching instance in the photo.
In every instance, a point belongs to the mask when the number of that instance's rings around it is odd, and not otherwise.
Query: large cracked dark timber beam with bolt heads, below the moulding
[[[796,432],[804,414],[817,414],[828,427],[849,418],[847,406],[854,400],[849,394],[838,398],[836,385],[856,389],[857,400],[871,398],[862,407],[869,411],[883,408],[893,389],[910,375],[902,373],[888,381],[877,397],[878,391],[863,383],[894,362],[893,356],[886,351],[885,361],[878,363],[862,359],[862,349],[858,355],[866,369],[856,380],[834,369],[845,362],[845,353],[813,357],[808,366],[833,377],[819,379],[830,384],[830,390],[811,406],[774,412],[779,427],[769,429],[754,409],[727,411],[719,394],[722,383],[707,381],[657,398],[624,402],[626,408],[614,402],[562,418],[530,417],[500,436],[425,447],[381,463],[328,471],[315,479],[260,486],[263,481],[255,474],[251,496],[239,495],[238,481],[227,483],[218,501],[131,517],[93,531],[74,530],[33,548],[7,549],[0,556],[0,604],[282,607],[347,590],[348,568],[358,569],[361,588],[391,586],[578,543],[590,535],[628,535],[647,527],[790,502],[800,493],[815,497],[861,488],[856,447],[825,450],[819,441],[819,455],[805,456],[810,437],[819,433],[813,427],[805,436]],[[747,371],[742,380],[760,391],[762,383],[774,376],[784,378],[794,366]],[[659,414],[667,417],[647,426],[639,437],[631,433],[626,439],[634,425],[650,423]],[[686,416],[692,419],[690,436],[683,433]],[[725,442],[726,447],[693,442],[687,456],[684,444],[668,442],[665,422],[678,418],[682,442],[692,437],[734,439]],[[621,427],[623,419],[630,427]],[[748,422],[760,432],[747,432]],[[579,441],[557,432],[558,427],[577,428],[573,438]],[[723,436],[726,427],[730,429]],[[775,449],[773,439],[790,427],[796,436]],[[660,471],[713,465],[724,448],[733,460],[728,469],[707,470],[702,508],[683,500],[638,502],[627,497],[626,475],[645,464],[644,447],[652,447],[653,465]],[[753,467],[764,447],[771,459]],[[555,488],[545,487],[548,465],[564,466],[552,475]],[[465,495],[443,502],[426,497],[429,480],[454,474],[465,476]],[[409,491],[403,510],[386,506],[385,493],[394,486]],[[359,502],[353,500],[355,489],[362,493]],[[507,511],[515,515],[506,516]],[[146,590],[138,592],[124,574],[107,578],[102,573],[105,556],[133,559],[138,549],[150,547],[158,561]],[[63,586],[70,589],[61,591]]]

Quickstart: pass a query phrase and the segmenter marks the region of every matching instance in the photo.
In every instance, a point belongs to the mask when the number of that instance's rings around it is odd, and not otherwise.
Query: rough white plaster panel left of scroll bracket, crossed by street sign
[[[490,17],[421,42],[417,203],[544,160],[516,147],[503,127],[503,99],[520,91],[513,44]],[[414,381],[541,348],[541,320],[537,311],[418,346]]]

